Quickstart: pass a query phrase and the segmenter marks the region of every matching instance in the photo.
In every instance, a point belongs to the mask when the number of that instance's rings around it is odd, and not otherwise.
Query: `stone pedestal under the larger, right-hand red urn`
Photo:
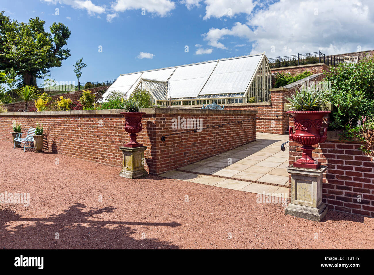
[[[322,174],[327,166],[319,169],[296,168],[288,166],[291,174],[291,203],[285,214],[312,221],[321,221],[327,206],[322,202]]]

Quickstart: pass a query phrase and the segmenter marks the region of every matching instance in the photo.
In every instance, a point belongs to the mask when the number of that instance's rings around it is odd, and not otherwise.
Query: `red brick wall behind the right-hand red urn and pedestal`
[[[301,157],[300,146],[289,142],[289,164]],[[313,158],[328,166],[323,176],[322,196],[329,209],[374,217],[373,156],[362,153],[359,146],[328,138],[327,142],[313,146],[316,148]]]

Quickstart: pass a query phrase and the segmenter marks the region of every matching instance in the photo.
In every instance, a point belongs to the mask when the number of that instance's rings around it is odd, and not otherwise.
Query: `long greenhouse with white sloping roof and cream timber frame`
[[[104,93],[146,89],[157,105],[266,102],[272,75],[265,53],[121,74]]]

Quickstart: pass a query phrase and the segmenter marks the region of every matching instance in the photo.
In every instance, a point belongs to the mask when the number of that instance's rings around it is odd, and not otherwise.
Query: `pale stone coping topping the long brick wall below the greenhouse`
[[[119,114],[123,109],[111,110],[79,110],[79,111],[45,111],[45,112],[13,112],[0,113],[0,116],[68,116],[68,115],[95,115],[95,114]],[[175,109],[175,108],[144,108],[140,111],[147,114],[257,114],[254,110],[202,110],[202,109]]]

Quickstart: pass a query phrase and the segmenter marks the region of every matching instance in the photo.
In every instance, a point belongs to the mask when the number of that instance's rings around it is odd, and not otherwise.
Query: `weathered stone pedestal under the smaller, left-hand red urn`
[[[119,172],[121,177],[140,178],[147,175],[144,169],[144,150],[147,146],[142,147],[119,147],[122,151],[122,171]]]

